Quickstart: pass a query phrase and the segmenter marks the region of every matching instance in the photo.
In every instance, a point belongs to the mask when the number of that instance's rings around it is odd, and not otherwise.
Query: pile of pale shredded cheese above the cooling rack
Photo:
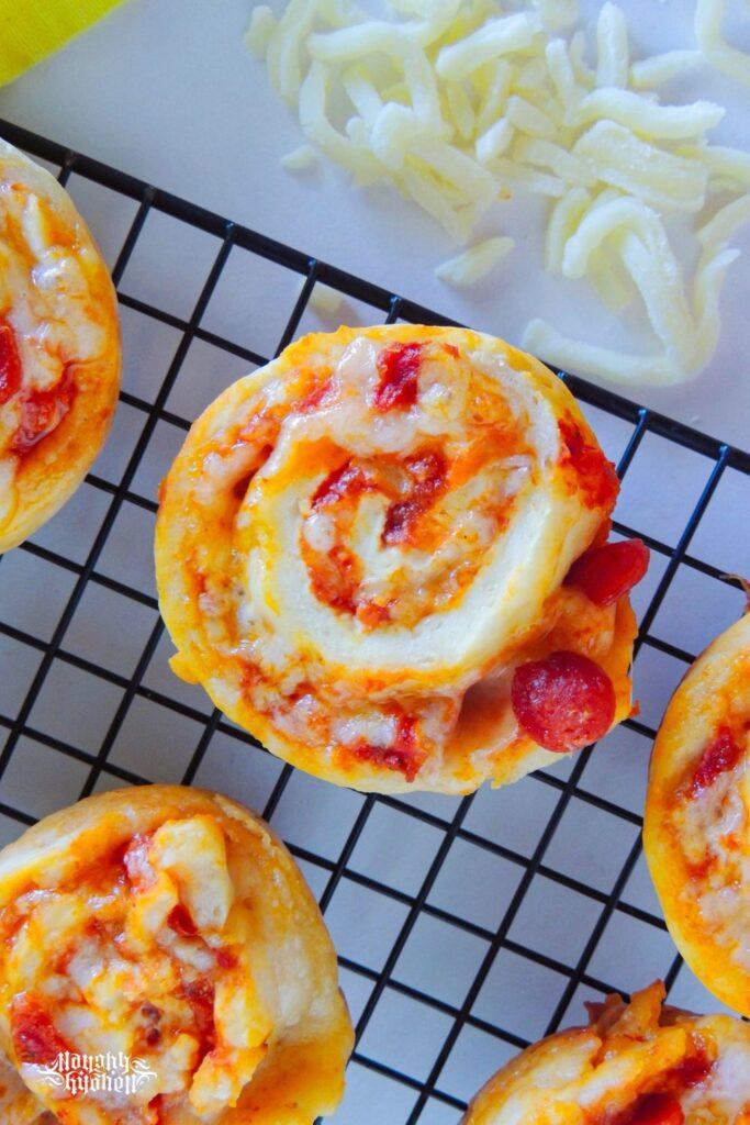
[[[256,7],[246,42],[307,137],[287,169],[309,168],[318,151],[358,186],[390,181],[462,244],[498,200],[548,196],[546,269],[587,278],[615,312],[640,295],[654,350],[623,354],[540,320],[524,345],[560,367],[665,385],[713,356],[720,291],[738,256],[730,242],[750,219],[750,153],[706,136],[723,107],[663,105],[656,92],[705,64],[750,83],[750,55],[723,38],[723,8],[697,0],[697,50],[631,63],[625,16],[607,0],[595,68],[572,30],[577,0],[387,0],[388,19],[350,0],[290,0],[278,19]],[[665,230],[674,213],[696,216],[692,278]],[[436,273],[475,285],[512,249],[497,235]]]

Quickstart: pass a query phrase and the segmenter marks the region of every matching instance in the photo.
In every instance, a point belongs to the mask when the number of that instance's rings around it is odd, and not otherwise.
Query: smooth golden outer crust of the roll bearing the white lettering
[[[247,934],[243,940],[251,943],[250,994],[259,997],[261,1004],[253,1019],[268,1020],[271,1027],[261,1061],[238,1102],[210,1119],[217,1125],[311,1125],[319,1114],[333,1112],[341,1099],[344,1065],[352,1046],[351,1023],[337,986],[335,951],[317,903],[283,844],[243,806],[201,790],[146,785],[88,798],[54,813],[0,853],[0,928],[6,908],[28,893],[30,886],[46,890],[80,885],[92,864],[117,854],[134,838],[150,838],[165,825],[199,825],[201,818],[210,818],[220,827],[237,902],[251,911],[251,930],[246,929],[247,921],[243,922],[245,929],[236,930],[233,907],[219,938],[231,934],[227,927],[232,925],[237,933]],[[137,884],[132,893],[137,897]],[[206,939],[210,952],[214,939]],[[236,955],[244,956],[242,952]],[[0,957],[0,1048],[20,1065],[22,1060],[16,1054],[17,1041],[8,1017],[12,1007],[8,964],[2,970]],[[220,965],[219,961],[214,1001],[217,1019]],[[228,964],[226,971],[231,970]],[[152,1065],[159,1071],[162,1063],[152,1060]],[[28,1081],[27,1068],[22,1073]],[[36,1087],[35,1092],[43,1097]],[[73,1113],[71,1123],[78,1122],[76,1099],[64,1105],[66,1112]],[[160,1120],[169,1125],[171,1120],[199,1119],[188,1112],[190,1107],[186,1109],[182,1102],[180,1106],[164,1102]],[[178,1109],[178,1117],[173,1117]],[[56,1112],[60,1115],[60,1108]],[[147,1116],[133,1119],[151,1120]]]

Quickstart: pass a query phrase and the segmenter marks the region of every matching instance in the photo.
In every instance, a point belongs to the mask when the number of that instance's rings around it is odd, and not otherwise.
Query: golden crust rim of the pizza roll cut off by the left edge
[[[78,488],[109,432],[120,377],[117,298],[107,267],[70,196],[45,169],[0,141],[2,191],[22,192],[25,198],[38,201],[53,246],[70,254],[81,271],[76,284],[82,277],[84,296],[73,299],[84,306],[83,316],[98,335],[94,352],[85,359],[64,357],[74,397],[56,429],[20,456],[6,453],[13,468],[13,502],[0,516],[0,552],[28,538]],[[0,212],[2,207],[0,197]],[[8,252],[13,254],[12,248]],[[64,292],[65,279],[58,284]],[[0,297],[0,317],[12,321],[15,297],[12,291],[6,295],[9,304],[4,307]],[[0,460],[2,447],[0,432]]]

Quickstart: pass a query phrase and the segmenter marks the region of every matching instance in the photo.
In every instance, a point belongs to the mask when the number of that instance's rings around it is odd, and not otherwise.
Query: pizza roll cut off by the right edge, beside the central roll
[[[643,845],[677,947],[750,1016],[750,613],[695,662],[653,746]]]

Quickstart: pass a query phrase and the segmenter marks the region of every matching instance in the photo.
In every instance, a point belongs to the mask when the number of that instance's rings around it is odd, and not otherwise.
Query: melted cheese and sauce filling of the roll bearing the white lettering
[[[58,1051],[121,1051],[153,1072],[129,1099],[132,1125],[178,1110],[215,1122],[236,1105],[273,1022],[249,944],[256,922],[231,866],[220,826],[198,814],[136,836],[74,884],[29,886],[4,909],[10,1035],[31,1089],[44,1089],[39,1068]],[[85,1101],[85,1122],[106,1125],[119,1098],[97,1090],[76,1095],[76,1107]]]

